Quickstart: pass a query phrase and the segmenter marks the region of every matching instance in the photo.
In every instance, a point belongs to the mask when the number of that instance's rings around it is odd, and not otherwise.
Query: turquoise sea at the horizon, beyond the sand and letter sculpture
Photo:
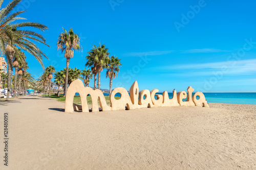
[[[78,93],[77,93],[78,94]],[[162,94],[162,93],[157,93]],[[168,93],[169,98],[173,98],[173,93]],[[108,96],[109,93],[104,93],[104,96]],[[120,96],[119,93],[116,96]],[[205,92],[205,99],[208,103],[231,103],[231,104],[251,104],[256,105],[256,92],[253,93],[225,93],[225,92]],[[184,99],[185,101],[186,99]]]

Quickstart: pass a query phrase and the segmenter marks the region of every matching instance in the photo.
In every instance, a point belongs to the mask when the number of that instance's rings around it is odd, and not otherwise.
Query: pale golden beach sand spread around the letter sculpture
[[[42,96],[0,102],[2,138],[9,114],[6,169],[256,169],[256,105],[96,113],[64,106]]]

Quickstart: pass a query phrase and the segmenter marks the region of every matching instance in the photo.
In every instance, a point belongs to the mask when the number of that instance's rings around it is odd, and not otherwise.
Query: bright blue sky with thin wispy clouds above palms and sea
[[[5,1],[4,6],[8,1]],[[24,0],[23,17],[44,23],[50,48],[39,44],[56,70],[66,66],[57,51],[65,29],[81,37],[83,53],[75,53],[70,67],[84,69],[85,57],[99,41],[122,67],[113,87],[140,90],[256,92],[255,1],[48,1]],[[27,55],[29,72],[42,74],[40,64]],[[105,70],[101,88],[109,88]],[[93,81],[91,81],[91,86]]]

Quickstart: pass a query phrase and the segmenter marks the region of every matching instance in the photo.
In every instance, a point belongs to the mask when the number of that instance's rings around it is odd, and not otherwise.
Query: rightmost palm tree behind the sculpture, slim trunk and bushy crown
[[[112,87],[112,80],[117,77],[118,72],[120,71],[120,63],[121,59],[118,59],[115,56],[111,56],[111,58],[106,58],[106,78],[110,78],[110,94],[111,94],[111,87]]]

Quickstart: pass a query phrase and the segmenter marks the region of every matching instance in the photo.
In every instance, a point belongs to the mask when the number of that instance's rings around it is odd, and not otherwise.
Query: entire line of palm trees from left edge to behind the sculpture
[[[33,76],[26,71],[28,63],[26,62],[26,55],[24,52],[28,52],[34,56],[44,69],[42,58],[47,58],[47,56],[38,48],[35,42],[49,46],[42,35],[28,29],[34,28],[40,31],[46,31],[48,30],[48,27],[37,22],[20,21],[25,18],[19,17],[19,15],[26,11],[13,12],[14,8],[21,1],[22,0],[12,0],[5,8],[2,8],[4,0],[0,0],[0,55],[4,55],[8,62],[7,77],[2,76],[2,80],[7,81],[7,100],[9,100],[12,84],[15,98],[16,93],[20,94],[20,92],[22,92],[26,95],[27,87],[34,85],[33,83],[35,83],[33,82]],[[109,56],[108,48],[106,48],[105,45],[99,44],[99,46],[93,46],[92,50],[88,52],[88,56],[86,57],[86,66],[91,67],[91,70],[84,69],[82,72],[79,72],[80,70],[77,68],[69,68],[70,59],[73,58],[74,51],[82,52],[80,38],[78,37],[78,34],[74,33],[72,28],[69,31],[63,29],[63,32],[58,37],[57,48],[58,50],[61,50],[61,52],[65,51],[64,57],[67,59],[66,68],[56,72],[55,74],[55,83],[59,87],[62,85],[65,88],[64,96],[67,92],[68,85],[75,79],[82,78],[84,80],[84,85],[89,86],[92,74],[94,75],[94,89],[97,88],[97,85],[99,89],[100,74],[103,68],[107,69],[106,77],[110,78],[111,91],[112,80],[117,76],[121,63],[120,59],[117,57]],[[13,68],[15,71],[14,81],[12,81]],[[53,66],[47,67],[45,69],[45,73],[41,75],[37,81],[37,84],[39,84],[39,86],[41,84],[44,87],[44,90],[45,87],[49,88],[49,90],[47,90],[49,91],[48,95],[50,94],[50,87],[52,85],[51,80],[54,72],[55,69]],[[62,78],[60,78],[60,75]],[[63,78],[65,78],[65,80],[63,80]],[[96,83],[97,78],[98,83]]]

